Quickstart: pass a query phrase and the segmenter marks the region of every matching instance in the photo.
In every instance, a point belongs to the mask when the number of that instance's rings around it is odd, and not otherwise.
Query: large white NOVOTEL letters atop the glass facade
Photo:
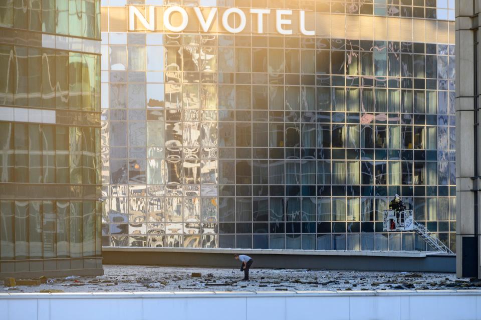
[[[155,30],[155,5],[146,5],[144,15],[138,7],[134,5],[128,5],[129,11],[129,30],[135,31],[136,24],[135,21],[137,19],[145,29],[154,31]],[[207,17],[204,17],[202,14],[203,10],[208,10]],[[216,7],[193,7],[197,20],[200,24],[200,27],[204,32],[208,32],[212,22],[217,15],[217,8]],[[274,11],[274,12],[272,12]],[[180,14],[180,22],[173,25],[171,23],[171,16],[172,14]],[[280,34],[289,35],[293,33],[292,30],[292,19],[293,11],[289,9],[262,9],[262,8],[250,8],[249,14],[253,18],[257,18],[257,33],[264,33],[264,18],[269,14],[276,15],[276,30]],[[230,16],[234,16],[234,19],[231,19]],[[176,19],[177,20],[177,19]],[[237,23],[232,23],[233,21],[237,21]],[[246,28],[246,12],[239,9],[239,8],[228,8],[222,13],[222,26],[227,32],[230,33],[239,33],[242,32]],[[164,27],[172,32],[182,32],[189,23],[189,15],[187,11],[177,5],[168,6],[164,10],[163,14],[163,24]],[[306,28],[306,12],[304,10],[299,10],[299,31],[304,35],[315,35],[314,30],[308,30]]]

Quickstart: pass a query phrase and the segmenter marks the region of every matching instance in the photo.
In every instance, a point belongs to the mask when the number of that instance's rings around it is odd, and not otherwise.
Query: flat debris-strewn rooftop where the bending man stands
[[[481,283],[454,273],[380,272],[252,268],[250,281],[240,281],[239,267],[199,268],[149,265],[104,265],[100,276],[49,278],[40,286],[7,287],[0,292],[146,292],[146,291],[319,291],[479,289]],[[195,276],[200,273],[200,276]],[[194,276],[192,276],[194,275]],[[198,275],[198,274],[197,274]]]

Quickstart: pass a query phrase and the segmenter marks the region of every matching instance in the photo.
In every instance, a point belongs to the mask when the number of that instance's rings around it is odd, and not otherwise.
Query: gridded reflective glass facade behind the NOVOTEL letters
[[[171,5],[181,32],[159,23]],[[217,8],[206,32],[196,6]],[[247,16],[235,34],[229,7]],[[263,33],[251,8],[271,8]],[[382,231],[398,193],[455,249],[453,1],[110,0],[101,15],[102,245],[429,249]]]

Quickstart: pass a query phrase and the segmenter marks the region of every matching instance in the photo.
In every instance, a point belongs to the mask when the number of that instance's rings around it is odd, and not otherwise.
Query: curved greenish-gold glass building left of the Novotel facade
[[[100,0],[0,4],[0,275],[101,274]]]

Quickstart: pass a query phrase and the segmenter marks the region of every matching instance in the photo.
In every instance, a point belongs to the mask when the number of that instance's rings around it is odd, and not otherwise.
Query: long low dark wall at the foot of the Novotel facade
[[[104,264],[237,267],[233,253],[249,254],[253,267],[454,272],[455,256],[430,252],[104,247]]]

